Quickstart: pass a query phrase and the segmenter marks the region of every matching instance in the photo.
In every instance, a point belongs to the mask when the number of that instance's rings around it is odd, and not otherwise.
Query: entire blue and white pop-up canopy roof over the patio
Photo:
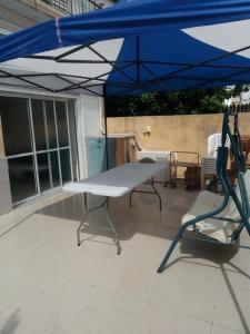
[[[249,0],[122,1],[2,37],[0,85],[100,96],[242,85],[249,36]]]

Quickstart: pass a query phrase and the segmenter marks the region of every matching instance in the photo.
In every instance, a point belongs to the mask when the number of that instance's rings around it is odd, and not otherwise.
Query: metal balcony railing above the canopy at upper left
[[[49,6],[61,10],[66,14],[78,14],[102,7],[96,2],[96,0],[42,0]]]

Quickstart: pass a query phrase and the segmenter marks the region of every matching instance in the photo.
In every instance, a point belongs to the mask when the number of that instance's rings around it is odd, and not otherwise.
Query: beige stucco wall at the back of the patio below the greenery
[[[241,134],[250,135],[250,112],[240,114],[239,119]],[[108,119],[108,131],[132,131],[146,149],[192,150],[203,155],[207,153],[208,136],[220,132],[221,122],[221,114],[117,117]],[[151,134],[144,135],[148,126]]]

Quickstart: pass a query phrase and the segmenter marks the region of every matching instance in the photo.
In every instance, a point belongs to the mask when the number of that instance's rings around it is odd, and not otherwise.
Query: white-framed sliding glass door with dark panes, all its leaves
[[[0,115],[13,203],[72,179],[66,101],[0,97]]]

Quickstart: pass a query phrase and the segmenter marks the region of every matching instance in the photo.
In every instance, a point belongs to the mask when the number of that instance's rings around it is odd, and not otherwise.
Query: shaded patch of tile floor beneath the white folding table
[[[89,208],[99,206],[102,202],[103,197],[88,196]],[[140,205],[141,204],[147,206],[149,204],[148,198],[144,198],[144,203],[143,200],[141,200]],[[78,226],[78,224],[86,216],[83,196],[81,194],[72,195],[64,199],[60,199],[57,203],[48,205],[41,209],[38,209],[34,214],[69,219],[71,222],[73,220],[77,223],[76,226]],[[157,225],[159,225],[158,222],[163,220],[162,213],[159,210],[159,203],[157,198],[156,202],[153,202],[151,214],[147,214],[147,217],[144,214],[143,217],[141,217],[141,213],[137,206],[136,195],[132,207],[129,206],[129,196],[123,196],[119,199],[112,198],[110,200],[110,217],[112,218],[113,225],[116,226],[121,240],[130,239],[136,233],[169,238],[169,236],[163,234],[162,230],[158,230],[156,228]],[[90,234],[91,238],[94,235],[112,236],[110,233],[103,230],[98,230],[98,234],[96,234],[94,225],[104,226],[107,224],[106,222],[106,212],[103,210],[103,208],[101,208],[98,212],[89,214],[88,224],[90,226],[83,227],[81,232]],[[170,237],[172,235],[170,235]]]

